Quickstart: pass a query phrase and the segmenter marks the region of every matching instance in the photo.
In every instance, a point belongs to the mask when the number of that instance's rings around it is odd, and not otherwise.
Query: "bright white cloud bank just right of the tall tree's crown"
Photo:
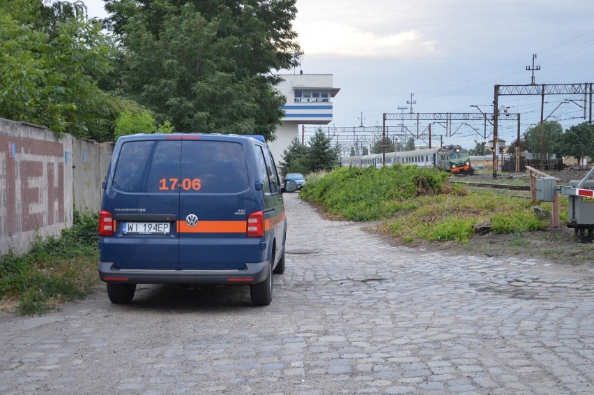
[[[296,23],[298,43],[306,55],[347,57],[418,58],[437,52],[436,40],[418,30],[378,35],[357,27],[334,22]]]

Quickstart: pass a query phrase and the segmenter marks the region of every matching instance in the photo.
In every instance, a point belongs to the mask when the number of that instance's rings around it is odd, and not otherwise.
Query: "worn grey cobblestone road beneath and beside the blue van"
[[[593,394],[594,267],[387,246],[285,195],[287,271],[0,318],[0,393]]]

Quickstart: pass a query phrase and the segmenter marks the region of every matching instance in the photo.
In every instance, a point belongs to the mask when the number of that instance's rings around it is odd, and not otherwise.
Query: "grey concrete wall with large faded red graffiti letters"
[[[75,207],[98,211],[112,150],[0,119],[0,255],[22,254],[38,238],[59,236],[72,225]]]

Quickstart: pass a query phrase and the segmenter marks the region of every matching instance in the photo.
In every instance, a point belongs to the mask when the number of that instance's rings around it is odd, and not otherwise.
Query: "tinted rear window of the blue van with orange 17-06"
[[[113,183],[135,193],[236,193],[248,188],[248,168],[235,142],[135,141],[122,145]]]

